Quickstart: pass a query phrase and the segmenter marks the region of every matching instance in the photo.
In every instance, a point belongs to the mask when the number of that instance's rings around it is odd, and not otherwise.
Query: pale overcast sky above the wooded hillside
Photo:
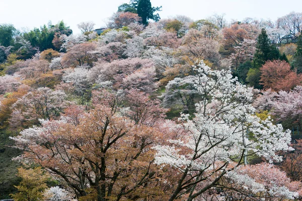
[[[13,24],[22,30],[63,20],[73,33],[80,33],[78,23],[93,21],[95,28],[104,27],[107,18],[122,3],[128,0],[0,0],[0,24]],[[163,6],[161,18],[185,15],[193,20],[215,13],[224,13],[228,21],[241,21],[246,17],[276,20],[292,11],[302,12],[301,0],[151,0],[151,3],[155,7]]]

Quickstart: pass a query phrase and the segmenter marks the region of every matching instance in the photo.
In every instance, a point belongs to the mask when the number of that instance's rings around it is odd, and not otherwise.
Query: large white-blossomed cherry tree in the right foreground
[[[291,150],[290,131],[268,118],[261,120],[251,106],[251,88],[232,78],[230,70],[212,70],[202,61],[195,67],[194,85],[201,96],[192,120],[183,115],[187,131],[181,139],[158,145],[156,163],[179,175],[169,201],[193,200],[218,187],[222,177],[251,154],[280,161],[279,150]],[[234,178],[238,182],[244,176]]]

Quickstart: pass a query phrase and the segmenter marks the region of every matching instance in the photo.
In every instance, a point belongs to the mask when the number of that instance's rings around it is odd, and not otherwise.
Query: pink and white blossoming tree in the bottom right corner
[[[290,181],[285,172],[268,163],[242,166],[229,172],[223,183],[228,188],[222,188],[220,194],[233,199],[284,200],[302,195],[301,182]]]

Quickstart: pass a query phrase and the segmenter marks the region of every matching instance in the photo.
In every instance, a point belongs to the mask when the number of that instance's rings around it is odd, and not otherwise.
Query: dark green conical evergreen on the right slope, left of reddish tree
[[[280,52],[275,46],[270,44],[265,29],[262,29],[261,34],[258,36],[256,48],[253,60],[255,68],[260,68],[267,60],[280,59]]]

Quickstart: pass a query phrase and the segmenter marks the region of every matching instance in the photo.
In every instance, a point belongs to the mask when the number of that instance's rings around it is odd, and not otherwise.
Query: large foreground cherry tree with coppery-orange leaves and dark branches
[[[79,124],[68,116],[41,121],[14,137],[25,149],[21,158],[41,165],[73,189],[77,198],[123,200],[166,197],[153,163],[158,129],[135,124],[122,115],[117,96],[102,94],[100,104],[80,116]]]

